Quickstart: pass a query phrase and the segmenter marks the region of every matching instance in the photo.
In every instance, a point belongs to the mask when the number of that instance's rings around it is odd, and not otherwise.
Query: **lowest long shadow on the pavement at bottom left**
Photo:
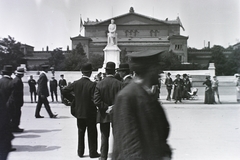
[[[13,147],[17,149],[16,152],[45,152],[61,148],[60,146],[45,146],[45,145],[36,146],[13,145]]]

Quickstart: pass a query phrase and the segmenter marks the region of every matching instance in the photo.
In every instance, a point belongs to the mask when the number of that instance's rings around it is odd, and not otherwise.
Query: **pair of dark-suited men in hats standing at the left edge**
[[[0,159],[6,160],[12,148],[13,132],[23,132],[19,128],[21,107],[23,106],[24,68],[18,68],[15,78],[11,77],[13,68],[5,65],[0,79]]]

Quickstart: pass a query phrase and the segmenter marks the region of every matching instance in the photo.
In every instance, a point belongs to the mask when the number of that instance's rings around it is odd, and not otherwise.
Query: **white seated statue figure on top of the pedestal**
[[[111,20],[111,23],[108,26],[108,44],[107,45],[117,45],[117,26],[114,24],[114,20]]]

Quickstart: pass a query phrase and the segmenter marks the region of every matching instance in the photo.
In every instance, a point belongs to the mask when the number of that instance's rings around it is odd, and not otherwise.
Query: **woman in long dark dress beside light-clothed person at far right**
[[[205,104],[213,104],[214,103],[214,97],[213,97],[213,92],[212,92],[212,82],[210,80],[210,76],[206,77],[206,81],[203,82],[203,85],[205,85],[205,99],[204,103]]]

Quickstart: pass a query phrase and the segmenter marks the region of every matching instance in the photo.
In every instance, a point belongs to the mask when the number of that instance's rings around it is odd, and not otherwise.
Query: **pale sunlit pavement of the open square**
[[[238,160],[240,159],[240,104],[236,103],[234,86],[220,88],[222,104],[203,104],[204,88],[199,88],[198,98],[174,104],[166,101],[166,89],[162,88],[163,103],[171,125],[169,144],[175,160]],[[9,160],[88,160],[88,143],[84,158],[77,156],[77,125],[68,106],[50,103],[52,111],[59,116],[51,119],[44,107],[41,115],[34,117],[36,103],[30,103],[28,95],[22,108],[21,128],[12,141],[17,151],[11,152]],[[51,98],[49,97],[49,100]],[[87,139],[87,135],[86,135]],[[98,126],[100,152],[100,130]],[[110,137],[110,154],[113,138]],[[111,158],[109,158],[111,159]]]

